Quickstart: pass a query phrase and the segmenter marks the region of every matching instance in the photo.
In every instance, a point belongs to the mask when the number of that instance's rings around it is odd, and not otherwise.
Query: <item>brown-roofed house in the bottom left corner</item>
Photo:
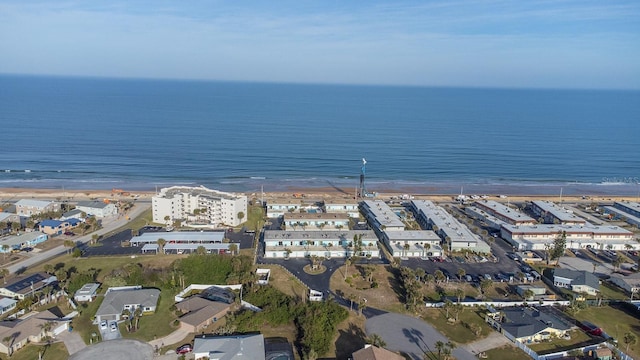
[[[41,342],[45,337],[55,338],[69,329],[70,320],[59,318],[46,310],[24,319],[0,321],[0,353],[11,355],[29,342]]]

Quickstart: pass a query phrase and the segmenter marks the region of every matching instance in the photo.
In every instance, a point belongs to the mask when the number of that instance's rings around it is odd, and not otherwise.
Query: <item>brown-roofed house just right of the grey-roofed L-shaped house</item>
[[[179,318],[182,328],[194,333],[222,319],[232,306],[233,304],[212,301],[198,295],[176,304],[176,308],[182,312]]]

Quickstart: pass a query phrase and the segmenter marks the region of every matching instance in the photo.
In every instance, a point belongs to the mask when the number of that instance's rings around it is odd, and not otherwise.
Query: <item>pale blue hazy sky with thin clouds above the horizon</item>
[[[0,0],[0,73],[640,89],[640,1]]]

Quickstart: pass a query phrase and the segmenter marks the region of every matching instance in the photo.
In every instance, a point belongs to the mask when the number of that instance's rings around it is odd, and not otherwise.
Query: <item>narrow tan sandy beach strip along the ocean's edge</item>
[[[524,191],[509,191],[508,187],[497,187],[498,191],[493,193],[467,193],[465,195],[487,195],[489,199],[498,201],[526,201],[526,200],[549,200],[549,201],[568,201],[568,202],[591,202],[591,201],[638,201],[638,196],[631,196],[629,194],[593,194],[593,195],[578,195],[573,193],[565,193],[560,196],[558,194],[540,193],[539,191],[531,191],[526,193]],[[527,189],[532,190],[531,187]],[[43,188],[26,188],[26,187],[11,187],[0,188],[0,204],[14,202],[20,199],[47,199],[55,201],[83,201],[90,199],[110,199],[110,200],[151,200],[156,194],[155,191],[150,190],[127,190],[126,187],[121,189],[126,195],[118,192],[113,192],[108,189],[43,189]],[[381,189],[376,191],[377,197],[374,199],[390,199],[392,197],[400,197],[402,195],[411,195],[415,199],[426,199],[434,201],[453,201],[459,193],[434,193],[434,192],[409,192],[408,189]],[[419,189],[413,189],[419,190]],[[428,190],[428,189],[424,189]],[[522,190],[522,189],[520,189]],[[291,187],[287,191],[265,191],[263,194],[260,191],[248,191],[248,192],[236,192],[247,195],[249,200],[260,200],[264,196],[265,200],[271,201],[287,201],[287,200],[301,200],[301,201],[319,201],[319,200],[331,200],[331,201],[353,201],[355,195],[355,189],[351,192],[347,189],[337,186],[327,187],[304,187],[297,186]],[[294,196],[294,194],[297,196]],[[299,195],[303,197],[300,198]],[[506,196],[501,198],[500,196]],[[585,198],[586,196],[586,198]],[[507,200],[508,199],[508,200]]]

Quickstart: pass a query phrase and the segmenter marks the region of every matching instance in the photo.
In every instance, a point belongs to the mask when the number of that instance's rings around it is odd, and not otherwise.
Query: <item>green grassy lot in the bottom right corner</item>
[[[620,348],[624,350],[624,334],[635,334],[638,341],[629,346],[628,354],[635,359],[640,359],[640,320],[629,314],[625,309],[611,306],[589,307],[575,315],[578,320],[586,320],[600,326],[607,334],[618,340]]]

